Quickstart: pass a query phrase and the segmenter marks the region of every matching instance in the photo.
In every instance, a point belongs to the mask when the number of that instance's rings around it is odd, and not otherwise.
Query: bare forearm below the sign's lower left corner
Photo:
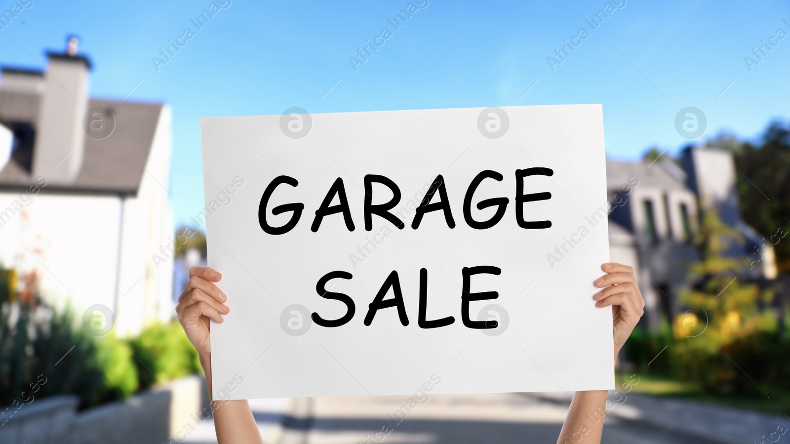
[[[205,383],[209,387],[209,397],[213,397],[211,386],[211,356],[201,356],[201,366],[205,372]],[[250,404],[246,399],[211,401],[214,415],[216,439],[223,444],[263,443],[261,432],[252,416]]]

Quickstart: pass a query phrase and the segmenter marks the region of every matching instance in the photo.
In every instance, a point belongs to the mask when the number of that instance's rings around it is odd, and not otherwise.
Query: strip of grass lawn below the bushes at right
[[[760,386],[760,388],[767,393],[767,397],[712,395],[701,393],[698,386],[690,382],[677,381],[660,374],[634,373],[639,378],[639,383],[633,386],[632,392],[634,393],[681,397],[694,401],[704,401],[711,404],[755,410],[780,416],[790,415],[790,390],[783,387]],[[617,386],[622,387],[623,383],[628,382],[628,375],[623,378],[622,374],[615,374],[615,379],[617,381]]]

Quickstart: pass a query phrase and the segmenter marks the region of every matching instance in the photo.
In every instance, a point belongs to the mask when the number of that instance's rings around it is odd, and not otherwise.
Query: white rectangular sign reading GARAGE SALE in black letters
[[[600,105],[295,107],[201,134],[231,307],[215,399],[614,388]]]

